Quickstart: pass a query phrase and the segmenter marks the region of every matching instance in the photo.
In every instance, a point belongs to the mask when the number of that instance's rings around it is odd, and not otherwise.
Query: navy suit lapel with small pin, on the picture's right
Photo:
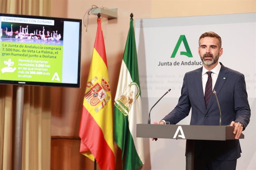
[[[221,63],[220,63],[221,64]],[[220,72],[217,78],[217,81],[213,87],[213,89],[216,91],[216,94],[218,95],[218,93],[220,92],[222,86],[224,85],[224,83],[226,82],[227,79],[227,69],[226,67],[224,67],[224,65],[221,64],[221,68],[220,68]],[[209,101],[209,105],[207,107],[207,112],[210,109],[211,105],[213,104],[213,102],[216,100],[214,93],[211,93],[211,97],[210,97],[210,101]],[[206,112],[206,113],[207,113]]]

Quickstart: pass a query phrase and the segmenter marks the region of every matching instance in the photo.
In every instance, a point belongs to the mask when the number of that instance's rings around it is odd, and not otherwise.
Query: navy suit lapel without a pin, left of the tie
[[[204,101],[204,92],[203,92],[203,84],[202,84],[202,69],[198,69],[196,71],[196,75],[194,77],[194,83],[196,85],[196,91],[198,95],[199,103],[202,106],[203,112],[206,112],[206,106]]]

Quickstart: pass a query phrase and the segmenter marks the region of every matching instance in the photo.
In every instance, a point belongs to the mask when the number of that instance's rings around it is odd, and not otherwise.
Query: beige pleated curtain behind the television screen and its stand
[[[52,0],[0,0],[0,13],[51,16]],[[13,169],[17,85],[0,84],[0,170]],[[50,169],[50,87],[24,86],[22,170]]]

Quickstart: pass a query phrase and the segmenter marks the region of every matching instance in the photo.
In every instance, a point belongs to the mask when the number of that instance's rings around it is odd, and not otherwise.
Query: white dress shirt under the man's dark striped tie
[[[214,67],[212,70],[210,70],[212,72],[211,73],[211,79],[213,81],[213,89],[214,89],[214,85],[215,85],[215,83],[217,81],[217,78],[218,78],[218,75],[219,75],[219,72],[220,72],[220,68],[221,68],[220,62],[218,62],[216,67]],[[207,71],[209,71],[209,70],[207,70],[203,66],[203,71],[202,71],[203,91],[205,91],[205,86],[206,86],[206,82],[207,82],[207,79],[208,79],[208,75],[206,73]]]

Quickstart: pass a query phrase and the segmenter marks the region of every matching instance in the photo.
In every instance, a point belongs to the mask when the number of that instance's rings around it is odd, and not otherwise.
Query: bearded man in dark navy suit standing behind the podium
[[[198,54],[203,67],[184,75],[177,106],[161,120],[176,124],[192,109],[190,125],[219,125],[220,112],[214,90],[217,92],[222,113],[221,125],[234,126],[233,133],[237,140],[195,140],[195,170],[236,169],[237,159],[241,156],[238,139],[250,121],[244,75],[224,67],[218,61],[222,53],[219,35],[207,32],[200,36]],[[234,61],[234,56],[230,61]]]

